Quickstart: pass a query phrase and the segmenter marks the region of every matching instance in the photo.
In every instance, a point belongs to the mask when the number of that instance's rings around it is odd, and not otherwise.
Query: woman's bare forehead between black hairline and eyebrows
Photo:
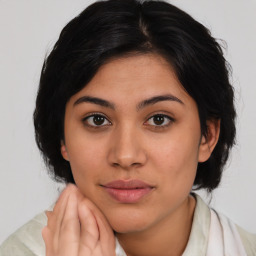
[[[72,101],[88,95],[114,102],[128,99],[137,102],[142,98],[163,94],[172,94],[184,100],[190,98],[173,68],[164,58],[155,54],[144,54],[107,62],[92,80],[72,97]]]

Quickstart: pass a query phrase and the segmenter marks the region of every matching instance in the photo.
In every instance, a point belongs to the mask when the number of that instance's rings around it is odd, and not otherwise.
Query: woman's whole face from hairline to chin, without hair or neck
[[[121,233],[182,209],[206,160],[196,103],[158,55],[102,66],[67,103],[64,129],[78,188]]]

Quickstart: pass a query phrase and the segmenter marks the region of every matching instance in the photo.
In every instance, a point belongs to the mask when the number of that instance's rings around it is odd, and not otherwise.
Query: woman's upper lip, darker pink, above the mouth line
[[[114,189],[153,188],[153,186],[141,180],[114,180],[103,186],[106,188],[114,188]]]

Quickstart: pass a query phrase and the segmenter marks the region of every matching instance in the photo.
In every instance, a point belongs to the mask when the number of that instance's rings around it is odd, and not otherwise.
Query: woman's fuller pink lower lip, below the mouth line
[[[117,189],[104,187],[108,194],[120,203],[136,203],[152,191],[152,188]]]

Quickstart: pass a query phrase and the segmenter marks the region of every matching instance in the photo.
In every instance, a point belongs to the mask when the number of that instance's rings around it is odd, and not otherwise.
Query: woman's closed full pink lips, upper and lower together
[[[121,203],[136,203],[154,188],[141,180],[115,180],[103,187],[112,198]]]

